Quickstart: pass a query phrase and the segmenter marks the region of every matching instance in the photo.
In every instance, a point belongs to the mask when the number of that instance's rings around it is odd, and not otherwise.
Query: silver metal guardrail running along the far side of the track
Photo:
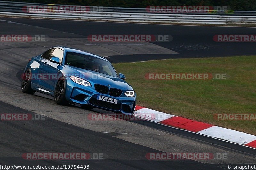
[[[101,11],[86,12],[24,12],[26,6],[70,6],[55,4],[35,4],[25,2],[0,1],[1,16],[55,18],[55,19],[79,19],[100,21],[126,21],[126,22],[150,22],[150,23],[194,23],[194,24],[256,24],[256,11],[234,11],[227,14],[219,13],[149,13],[146,8],[114,8],[101,7]],[[89,6],[89,8],[95,8]],[[23,10],[22,10],[23,9]],[[226,11],[227,12],[227,11]]]

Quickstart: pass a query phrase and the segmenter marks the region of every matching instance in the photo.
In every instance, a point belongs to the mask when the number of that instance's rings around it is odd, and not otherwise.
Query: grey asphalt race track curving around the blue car
[[[253,43],[214,42],[215,34],[256,34],[255,28],[149,25],[46,19],[0,18],[1,35],[46,35],[46,41],[0,42],[1,113],[45,115],[45,120],[0,121],[0,165],[87,164],[90,169],[228,169],[255,164],[256,150],[147,121],[96,121],[76,105],[21,92],[29,58],[53,46],[108,56],[113,63],[151,59],[255,55]],[[172,35],[171,42],[90,42],[93,34]],[[200,47],[200,48],[199,48]],[[104,153],[103,160],[26,160],[23,153]],[[217,153],[227,159],[147,160],[147,153]]]

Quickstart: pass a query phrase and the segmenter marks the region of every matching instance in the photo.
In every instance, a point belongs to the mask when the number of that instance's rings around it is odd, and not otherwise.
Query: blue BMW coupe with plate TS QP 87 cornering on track
[[[80,104],[132,117],[136,93],[121,73],[100,56],[77,49],[54,47],[29,60],[22,75],[24,93],[41,92],[57,104]]]

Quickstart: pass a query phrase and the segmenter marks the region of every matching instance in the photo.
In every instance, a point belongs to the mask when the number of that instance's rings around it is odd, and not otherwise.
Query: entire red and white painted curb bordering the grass
[[[239,132],[204,122],[198,122],[175,115],[158,112],[156,110],[151,110],[141,106],[136,106],[134,116],[151,122],[185,129],[187,131],[196,132],[205,136],[256,148],[256,136],[244,132]]]

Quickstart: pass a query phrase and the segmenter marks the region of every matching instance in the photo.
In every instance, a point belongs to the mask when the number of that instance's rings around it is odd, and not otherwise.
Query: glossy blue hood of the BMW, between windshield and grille
[[[76,68],[73,66],[65,65],[64,67],[68,70],[69,73],[72,72],[74,76],[85,79],[92,84],[100,84],[105,86],[111,85],[110,88],[117,88],[121,90],[133,90],[131,85],[129,85],[126,81],[120,78],[109,76],[102,73],[96,73],[90,70]]]

